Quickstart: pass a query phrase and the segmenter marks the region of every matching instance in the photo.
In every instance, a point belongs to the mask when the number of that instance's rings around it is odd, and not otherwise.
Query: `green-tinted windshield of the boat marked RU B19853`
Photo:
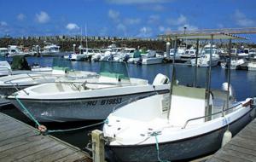
[[[102,61],[100,65],[100,75],[130,80],[125,62]]]

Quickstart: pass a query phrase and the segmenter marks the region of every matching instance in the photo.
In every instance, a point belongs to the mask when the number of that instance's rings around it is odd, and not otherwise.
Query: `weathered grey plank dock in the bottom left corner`
[[[89,155],[54,136],[0,113],[0,161],[89,162]]]

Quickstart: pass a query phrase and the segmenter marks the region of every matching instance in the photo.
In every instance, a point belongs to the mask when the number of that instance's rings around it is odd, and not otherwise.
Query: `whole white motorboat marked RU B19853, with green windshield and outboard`
[[[140,78],[129,78],[125,63],[101,62],[99,78],[80,83],[40,84],[9,95],[9,100],[26,114],[19,99],[40,122],[67,122],[106,119],[113,108],[134,100],[167,93],[169,79],[158,74],[153,84]]]

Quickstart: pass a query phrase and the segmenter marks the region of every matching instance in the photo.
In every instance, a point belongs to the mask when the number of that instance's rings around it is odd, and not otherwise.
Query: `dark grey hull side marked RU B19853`
[[[97,98],[61,99],[61,100],[25,100],[20,99],[22,104],[32,113],[39,122],[69,122],[82,120],[107,119],[108,114],[113,112],[114,107],[128,104],[131,99],[144,98],[156,95],[156,92],[167,93],[169,90],[144,91],[137,94],[102,96]],[[22,113],[26,111],[20,106],[15,98],[11,103]],[[27,117],[29,117],[27,115]]]

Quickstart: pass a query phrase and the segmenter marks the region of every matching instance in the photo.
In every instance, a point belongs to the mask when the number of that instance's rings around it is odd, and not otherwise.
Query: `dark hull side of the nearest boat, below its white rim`
[[[233,136],[253,119],[250,113],[252,110],[250,109],[248,113],[230,124],[230,131]],[[217,151],[221,147],[225,130],[227,130],[227,127],[213,130],[201,136],[194,136],[175,142],[159,143],[160,159],[192,159]],[[108,145],[106,150],[108,157],[116,161],[159,161],[155,144],[135,146]]]

